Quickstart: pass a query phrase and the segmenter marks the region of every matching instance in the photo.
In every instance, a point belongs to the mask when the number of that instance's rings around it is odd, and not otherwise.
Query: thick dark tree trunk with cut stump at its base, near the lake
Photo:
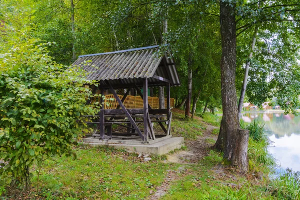
[[[245,172],[247,149],[241,144],[247,143],[246,136],[239,136],[239,121],[235,89],[236,69],[236,31],[235,6],[220,1],[221,30],[221,95],[223,115],[220,132],[214,147],[223,150],[223,159]],[[246,133],[245,133],[246,134]],[[240,141],[242,139],[242,141]],[[239,156],[243,155],[243,156]],[[242,160],[241,160],[242,159]],[[245,159],[245,160],[244,160]]]

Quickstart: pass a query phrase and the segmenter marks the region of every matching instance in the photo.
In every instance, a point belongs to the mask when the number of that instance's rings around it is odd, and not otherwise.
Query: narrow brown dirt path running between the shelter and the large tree
[[[185,140],[184,144],[187,146],[186,150],[180,150],[167,156],[166,162],[176,162],[182,164],[177,170],[167,170],[167,175],[162,184],[156,187],[154,194],[150,195],[148,199],[156,200],[163,196],[170,188],[170,183],[178,179],[181,174],[186,172],[185,165],[197,163],[204,156],[208,155],[209,149],[212,146],[207,142],[207,139],[217,139],[217,135],[212,134],[212,130],[218,128],[208,123],[204,123],[206,130],[203,131],[202,136],[198,136],[196,140]]]

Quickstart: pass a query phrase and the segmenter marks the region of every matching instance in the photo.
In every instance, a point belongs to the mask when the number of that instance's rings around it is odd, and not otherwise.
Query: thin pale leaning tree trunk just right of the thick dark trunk
[[[255,28],[254,28],[254,33],[253,33],[253,37],[252,37],[250,53],[249,53],[249,56],[248,56],[248,59],[247,59],[247,62],[246,62],[246,66],[245,66],[245,74],[244,74],[244,79],[243,79],[243,82],[242,82],[242,87],[241,87],[239,101],[238,101],[238,121],[240,120],[241,109],[242,109],[243,100],[244,100],[244,97],[245,97],[249,66],[250,66],[250,62],[251,62],[251,58],[252,58],[252,55],[253,55],[254,46],[255,46],[255,42],[256,42],[257,28],[258,28],[258,26],[256,25]]]

